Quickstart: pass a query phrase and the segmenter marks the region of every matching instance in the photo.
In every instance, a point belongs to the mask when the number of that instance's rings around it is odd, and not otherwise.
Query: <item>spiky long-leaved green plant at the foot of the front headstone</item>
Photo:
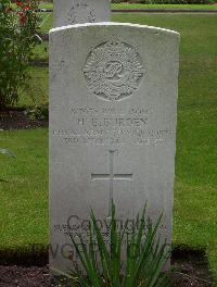
[[[166,240],[162,242],[161,239],[162,216],[153,225],[149,217],[145,220],[145,210],[144,207],[141,216],[137,217],[138,228],[128,234],[128,222],[124,229],[119,230],[113,204],[108,244],[105,242],[94,213],[91,211],[89,246],[84,242],[81,236],[78,241],[72,236],[72,241],[85,270],[85,273],[73,270],[72,274],[67,275],[72,280],[72,286],[75,284],[93,287],[170,286],[171,272],[163,273],[170,257],[170,248],[166,245]],[[127,246],[124,249],[126,238]],[[126,250],[125,263],[120,259],[123,250]]]

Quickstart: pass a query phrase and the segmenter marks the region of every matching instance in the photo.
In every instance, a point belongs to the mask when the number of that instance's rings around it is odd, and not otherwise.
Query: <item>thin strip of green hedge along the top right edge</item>
[[[141,3],[141,4],[209,4],[214,0],[112,0],[112,3]]]

